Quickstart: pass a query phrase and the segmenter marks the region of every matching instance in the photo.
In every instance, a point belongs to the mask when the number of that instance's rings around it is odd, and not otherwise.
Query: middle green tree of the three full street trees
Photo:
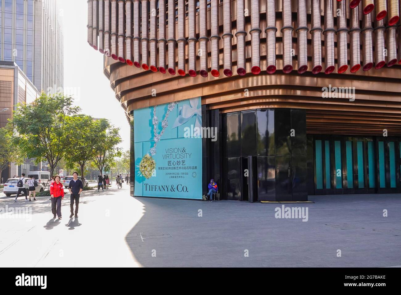
[[[88,115],[74,115],[68,117],[66,122],[71,128],[71,132],[69,136],[70,148],[65,159],[69,163],[69,167],[73,166],[73,163],[79,165],[83,181],[85,165],[93,158],[95,146],[103,141],[101,134],[99,134],[101,122],[93,120]]]

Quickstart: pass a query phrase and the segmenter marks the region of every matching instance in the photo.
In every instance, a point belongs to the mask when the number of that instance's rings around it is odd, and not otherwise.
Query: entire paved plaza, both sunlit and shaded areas
[[[308,221],[275,218],[281,204],[82,194],[79,218],[54,221],[48,197],[31,220],[0,218],[2,267],[394,267],[401,265],[401,196],[310,196]],[[383,217],[387,210],[388,217]],[[9,215],[9,214],[6,214]],[[10,216],[8,216],[10,217]],[[341,256],[338,256],[341,250]],[[248,254],[245,255],[245,254]]]

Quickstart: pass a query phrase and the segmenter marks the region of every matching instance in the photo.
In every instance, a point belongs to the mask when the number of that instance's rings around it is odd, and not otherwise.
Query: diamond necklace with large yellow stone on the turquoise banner
[[[156,162],[154,161],[152,156],[154,156],[156,154],[156,145],[159,142],[160,138],[162,137],[162,135],[164,134],[164,131],[166,130],[166,128],[168,126],[167,118],[168,118],[168,115],[170,114],[170,112],[172,110],[174,110],[175,105],[176,105],[176,102],[170,102],[170,104],[168,104],[166,116],[164,116],[164,119],[162,121],[162,131],[160,132],[160,134],[157,133],[157,125],[158,125],[159,121],[156,116],[156,106],[153,107],[152,124],[153,124],[153,133],[154,133],[154,145],[149,150],[150,155],[149,155],[149,153],[144,155],[141,162],[139,163],[139,171],[141,171],[142,175],[144,175],[144,177],[146,177],[146,179],[149,179],[152,176],[153,171],[156,168]]]

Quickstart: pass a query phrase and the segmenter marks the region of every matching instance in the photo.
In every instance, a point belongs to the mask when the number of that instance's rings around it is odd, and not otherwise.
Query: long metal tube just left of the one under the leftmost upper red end
[[[348,69],[347,49],[347,6],[346,0],[337,1],[337,73],[344,73]]]

